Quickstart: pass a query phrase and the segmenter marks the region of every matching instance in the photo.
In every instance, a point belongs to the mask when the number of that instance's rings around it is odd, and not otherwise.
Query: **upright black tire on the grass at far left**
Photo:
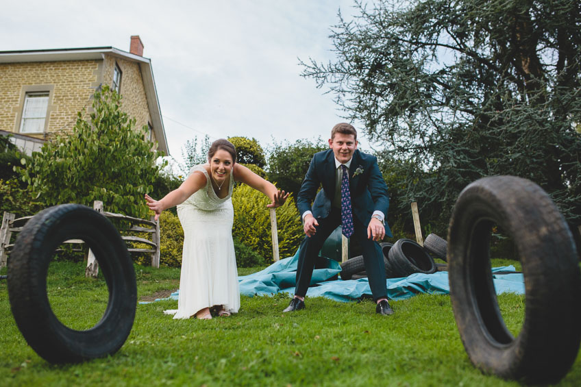
[[[64,240],[82,239],[95,253],[109,290],[101,321],[86,331],[63,325],[47,297],[47,271]],[[118,351],[131,332],[137,303],[135,272],[119,232],[84,205],[36,214],[18,235],[8,264],[10,308],[30,347],[51,363],[81,362]]]

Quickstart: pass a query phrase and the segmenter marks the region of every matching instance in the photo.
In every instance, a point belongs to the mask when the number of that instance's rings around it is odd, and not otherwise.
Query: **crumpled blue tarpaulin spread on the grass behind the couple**
[[[238,277],[240,294],[253,297],[255,295],[271,296],[284,292],[292,297],[295,294],[298,259],[299,251],[292,257],[275,262],[258,273]],[[515,272],[514,266],[496,267],[492,269],[492,272],[497,294],[513,292],[523,295],[525,293],[522,273],[510,273]],[[500,272],[502,274],[499,274]],[[348,281],[334,279],[339,273],[341,273],[341,266],[338,262],[319,257],[312,273],[311,287],[308,289],[307,295],[343,302],[371,297],[367,278]],[[404,278],[388,278],[386,286],[389,299],[396,301],[408,299],[420,293],[447,295],[450,292],[446,271],[438,271],[433,274],[415,273]],[[179,290],[173,292],[169,299],[177,299],[178,294]]]

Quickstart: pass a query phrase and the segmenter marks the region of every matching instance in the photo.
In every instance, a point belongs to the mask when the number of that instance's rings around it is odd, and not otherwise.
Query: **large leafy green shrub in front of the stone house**
[[[103,86],[95,92],[90,117],[77,114],[70,135],[55,136],[32,153],[22,170],[23,181],[47,205],[103,201],[108,211],[144,218],[143,195],[164,167],[160,151],[145,140],[147,126],[121,110],[121,96]]]

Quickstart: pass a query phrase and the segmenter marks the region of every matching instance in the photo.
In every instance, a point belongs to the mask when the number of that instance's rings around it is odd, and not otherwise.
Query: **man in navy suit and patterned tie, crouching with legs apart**
[[[297,195],[306,237],[299,252],[295,297],[283,312],[305,308],[315,259],[325,239],[341,224],[343,234],[347,238],[353,235],[363,249],[365,271],[377,303],[375,312],[393,314],[387,302],[385,265],[378,243],[386,234],[392,236],[385,224],[389,196],[377,158],[357,150],[357,132],[348,123],[333,127],[329,147],[315,153]],[[317,194],[321,184],[323,188]]]

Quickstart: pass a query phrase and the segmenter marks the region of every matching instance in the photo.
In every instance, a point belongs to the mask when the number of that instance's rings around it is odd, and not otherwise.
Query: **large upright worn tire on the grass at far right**
[[[493,225],[512,236],[523,268],[526,308],[516,338],[493,285]],[[454,317],[473,364],[506,379],[558,382],[579,350],[581,279],[571,233],[549,196],[519,177],[469,184],[450,219],[448,260]]]

